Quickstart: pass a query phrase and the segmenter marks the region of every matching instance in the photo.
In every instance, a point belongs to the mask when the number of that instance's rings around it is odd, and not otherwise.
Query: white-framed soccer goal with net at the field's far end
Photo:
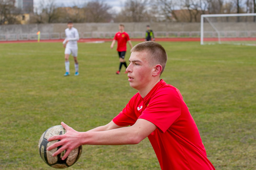
[[[256,46],[256,13],[201,15],[201,45]]]

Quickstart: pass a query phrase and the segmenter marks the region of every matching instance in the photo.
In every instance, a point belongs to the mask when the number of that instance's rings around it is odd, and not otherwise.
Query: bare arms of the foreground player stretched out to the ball
[[[57,150],[53,156],[67,150],[63,156],[63,160],[67,158],[69,153],[80,145],[133,145],[138,144],[148,135],[150,135],[157,126],[145,119],[138,119],[135,124],[129,127],[120,127],[110,122],[106,126],[100,126],[87,132],[78,132],[61,122],[61,125],[67,130],[63,135],[50,137],[48,141],[60,140],[49,146],[47,150],[55,147],[62,147]],[[119,127],[119,128],[118,128]],[[113,128],[106,130],[108,128]],[[96,130],[96,131],[95,131]],[[103,131],[102,131],[103,130]]]

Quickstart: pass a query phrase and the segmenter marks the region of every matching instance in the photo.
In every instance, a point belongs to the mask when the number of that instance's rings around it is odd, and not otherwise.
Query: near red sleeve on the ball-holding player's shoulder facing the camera
[[[176,88],[162,88],[153,95],[139,118],[154,123],[164,133],[181,115],[182,101]]]

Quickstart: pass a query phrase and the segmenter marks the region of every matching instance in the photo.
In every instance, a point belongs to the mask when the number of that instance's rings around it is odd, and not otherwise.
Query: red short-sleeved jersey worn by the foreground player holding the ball
[[[215,169],[177,88],[161,80],[144,98],[135,94],[113,122],[132,126],[137,119],[146,119],[157,126],[148,139],[162,170]]]

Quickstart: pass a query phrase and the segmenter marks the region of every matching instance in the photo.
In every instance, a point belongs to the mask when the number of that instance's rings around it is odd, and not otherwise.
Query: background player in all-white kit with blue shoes
[[[63,47],[65,48],[66,73],[64,74],[64,76],[70,75],[68,58],[71,53],[75,61],[75,76],[78,76],[79,72],[78,72],[78,60],[77,60],[77,54],[78,54],[77,41],[79,40],[79,33],[77,29],[73,27],[72,21],[68,21],[68,28],[65,29],[65,34],[66,34],[66,38],[63,41]]]

